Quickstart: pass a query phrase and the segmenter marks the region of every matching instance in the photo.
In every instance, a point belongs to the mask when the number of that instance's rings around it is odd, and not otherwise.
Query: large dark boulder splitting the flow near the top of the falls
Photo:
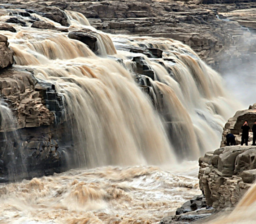
[[[81,29],[79,31],[72,31],[68,35],[69,38],[79,40],[86,44],[92,51],[98,50],[97,33],[90,29]]]

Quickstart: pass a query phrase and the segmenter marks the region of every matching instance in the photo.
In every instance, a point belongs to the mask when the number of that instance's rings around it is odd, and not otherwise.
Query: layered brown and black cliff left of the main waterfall
[[[8,102],[16,118],[16,123],[12,124],[16,130],[4,132],[1,128],[6,118],[0,111],[0,181],[63,171],[65,161],[62,149],[69,147],[72,141],[65,131],[64,102],[55,87],[51,83],[36,81],[29,69],[9,68],[0,70],[0,94],[1,100]],[[18,139],[12,139],[13,136]],[[8,146],[6,138],[9,138]],[[16,160],[20,159],[22,151],[23,161],[17,163],[23,163],[27,172],[22,173],[20,169],[15,174],[19,178],[9,176],[8,167],[15,162],[6,155],[6,147],[13,149]]]

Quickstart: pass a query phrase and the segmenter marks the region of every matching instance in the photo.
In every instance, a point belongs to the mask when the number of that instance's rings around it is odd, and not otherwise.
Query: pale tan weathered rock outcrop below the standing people
[[[233,207],[255,181],[256,146],[226,146],[199,159],[199,186],[208,206]]]

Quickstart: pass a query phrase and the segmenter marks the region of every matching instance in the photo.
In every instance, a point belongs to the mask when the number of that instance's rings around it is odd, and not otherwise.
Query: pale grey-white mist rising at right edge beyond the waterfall
[[[250,37],[232,46],[225,56],[232,58],[220,65],[226,88],[246,109],[256,102],[256,32],[251,31]]]

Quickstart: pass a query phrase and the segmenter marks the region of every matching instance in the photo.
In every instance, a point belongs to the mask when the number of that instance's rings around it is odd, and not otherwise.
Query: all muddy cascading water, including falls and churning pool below
[[[9,13],[3,10],[0,21]],[[197,166],[179,166],[175,155],[197,159],[218,145],[221,127],[234,110],[222,80],[179,41],[110,36],[92,28],[82,14],[65,13],[69,31],[97,33],[97,51],[67,33],[31,28],[22,15],[27,27],[15,24],[17,33],[1,34],[14,51],[14,67],[29,67],[64,96],[67,132],[75,142],[74,155],[67,157],[73,156],[76,166],[94,169],[0,185],[0,222],[159,223],[200,192]],[[162,58],[127,51],[131,46],[161,49]],[[135,164],[143,166],[95,168]],[[148,164],[173,164],[172,172]]]

